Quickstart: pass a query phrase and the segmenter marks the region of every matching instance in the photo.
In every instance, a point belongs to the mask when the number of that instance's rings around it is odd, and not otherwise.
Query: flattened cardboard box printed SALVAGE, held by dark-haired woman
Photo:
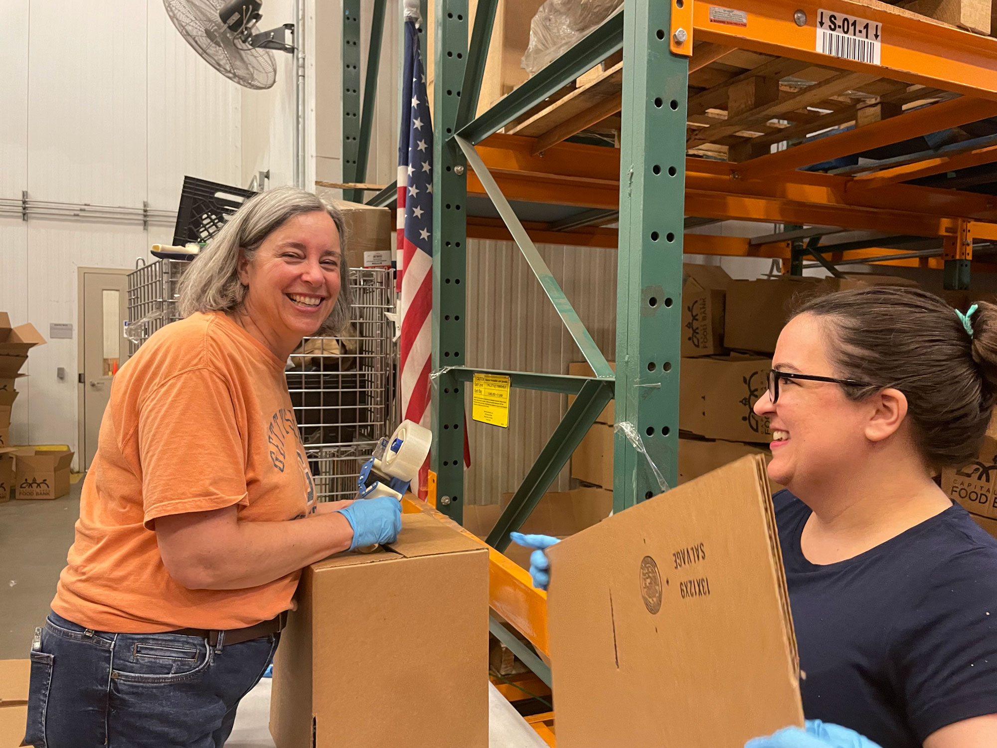
[[[761,456],[603,520],[548,554],[558,748],[742,748],[803,726]]]

